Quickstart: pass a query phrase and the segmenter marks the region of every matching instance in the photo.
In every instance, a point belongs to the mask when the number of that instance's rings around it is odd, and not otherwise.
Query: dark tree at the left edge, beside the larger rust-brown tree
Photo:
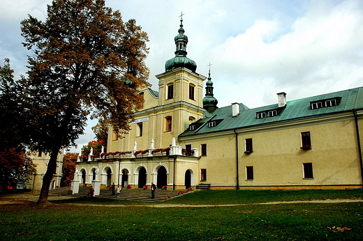
[[[0,66],[0,189],[14,187],[19,180],[27,182],[36,172],[25,153],[24,118],[17,102],[20,91],[14,81],[10,60]]]

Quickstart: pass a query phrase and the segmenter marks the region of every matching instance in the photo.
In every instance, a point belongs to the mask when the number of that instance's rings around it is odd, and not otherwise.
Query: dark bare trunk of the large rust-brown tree
[[[37,204],[48,204],[48,194],[50,189],[50,182],[53,179],[54,170],[57,168],[57,157],[58,157],[59,149],[53,150],[50,154],[50,160],[48,162],[47,171],[43,176],[43,184],[40,189],[39,199],[36,202]]]

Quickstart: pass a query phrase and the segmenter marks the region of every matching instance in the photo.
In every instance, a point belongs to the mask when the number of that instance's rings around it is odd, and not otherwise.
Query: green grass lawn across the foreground
[[[207,208],[84,198],[0,205],[0,240],[363,240],[363,202],[251,204],[314,199],[363,199],[363,191],[202,191],[163,203],[245,203]],[[90,202],[101,205],[78,205]]]

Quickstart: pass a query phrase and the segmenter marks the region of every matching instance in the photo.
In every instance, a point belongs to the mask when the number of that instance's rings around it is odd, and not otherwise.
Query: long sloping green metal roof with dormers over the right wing
[[[327,100],[332,98],[341,98],[338,105],[334,107],[323,107],[320,109],[311,109],[310,102],[318,100]],[[309,98],[299,100],[291,100],[286,103],[281,112],[277,116],[267,118],[257,118],[256,113],[260,111],[268,111],[278,109],[278,104],[270,104],[265,107],[258,107],[249,109],[244,104],[239,104],[239,114],[235,117],[232,116],[232,105],[221,107],[212,113],[205,112],[205,118],[198,120],[195,123],[205,123],[195,130],[186,130],[179,137],[187,137],[196,134],[207,134],[212,132],[221,132],[225,130],[233,130],[244,127],[252,127],[255,125],[268,125],[289,120],[296,120],[301,118],[311,118],[313,116],[324,116],[330,114],[337,114],[345,111],[352,111],[353,109],[363,109],[363,87],[352,88],[346,91],[338,91],[334,93],[327,93],[325,95],[316,95]],[[212,118],[211,118],[212,117]],[[221,120],[215,127],[208,127],[206,122],[209,120]],[[193,123],[194,124],[194,123]]]

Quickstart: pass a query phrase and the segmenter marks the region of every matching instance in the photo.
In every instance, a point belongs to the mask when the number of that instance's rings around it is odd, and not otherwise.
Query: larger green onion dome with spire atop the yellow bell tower
[[[197,70],[197,64],[186,57],[186,44],[188,43],[188,37],[184,35],[183,20],[180,20],[179,34],[175,36],[175,57],[165,62],[165,72],[174,70],[179,67],[187,68],[195,72]]]

